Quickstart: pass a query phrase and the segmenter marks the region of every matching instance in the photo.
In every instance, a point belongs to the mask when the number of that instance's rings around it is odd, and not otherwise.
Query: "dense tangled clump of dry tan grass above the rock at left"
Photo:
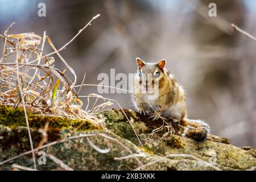
[[[4,35],[0,34],[4,42],[0,59],[0,105],[15,109],[24,104],[26,110],[34,114],[88,118],[73,88],[76,74],[59,53],[65,47],[57,50],[46,32],[43,38],[33,32],[9,34],[11,26]],[[53,48],[53,53],[66,65],[65,70],[55,68],[55,58],[44,52],[45,43]],[[65,76],[66,71],[73,74],[75,81]]]

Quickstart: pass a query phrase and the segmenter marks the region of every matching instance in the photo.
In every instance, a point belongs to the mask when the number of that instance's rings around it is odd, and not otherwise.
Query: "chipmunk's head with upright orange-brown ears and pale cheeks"
[[[135,76],[135,81],[146,90],[146,92],[155,88],[160,80],[167,75],[166,60],[160,60],[157,63],[145,63],[142,59],[137,57],[138,73]]]

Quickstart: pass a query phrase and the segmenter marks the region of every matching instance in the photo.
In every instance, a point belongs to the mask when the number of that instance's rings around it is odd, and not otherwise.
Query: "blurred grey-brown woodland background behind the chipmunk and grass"
[[[46,4],[46,17],[38,16],[40,2]],[[208,16],[211,2],[217,17]],[[46,31],[60,48],[96,14],[100,18],[60,52],[75,70],[77,84],[85,72],[86,84],[99,84],[98,74],[111,68],[116,74],[137,72],[135,57],[167,59],[167,69],[187,90],[189,118],[204,119],[213,134],[235,146],[256,148],[256,42],[230,26],[256,36],[256,1],[0,0],[0,34],[15,21],[10,33],[43,37]],[[55,65],[65,69],[57,57]],[[90,93],[97,88],[86,86],[80,95]],[[134,109],[129,94],[104,96]]]

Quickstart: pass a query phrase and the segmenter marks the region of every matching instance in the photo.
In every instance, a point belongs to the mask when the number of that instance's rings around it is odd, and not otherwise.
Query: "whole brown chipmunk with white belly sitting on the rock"
[[[143,115],[151,113],[149,118],[152,121],[159,119],[159,115],[172,118],[185,127],[183,137],[192,138],[197,142],[207,139],[209,125],[199,119],[187,118],[184,89],[178,84],[174,76],[164,68],[166,60],[160,60],[158,63],[144,63],[138,57],[136,60],[138,73],[134,77],[133,90],[143,100],[134,95],[132,100],[139,113]],[[158,86],[157,89],[155,89],[156,86]],[[157,93],[152,92],[152,89],[155,89],[153,91],[157,91]]]

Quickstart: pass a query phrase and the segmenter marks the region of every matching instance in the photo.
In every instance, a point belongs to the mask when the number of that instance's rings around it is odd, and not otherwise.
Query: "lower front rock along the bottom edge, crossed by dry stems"
[[[23,152],[30,151],[30,143],[28,141],[26,127],[21,126],[14,130],[0,125],[0,135],[2,135],[2,132],[5,132],[7,136],[9,136],[10,143],[7,147],[0,144],[0,152],[2,154],[0,156],[0,163],[16,155],[22,154]],[[65,130],[65,132],[69,131]],[[40,141],[40,138],[36,138],[36,136],[39,136],[40,134],[34,129],[31,129],[31,134],[34,141],[34,146],[36,146],[36,144],[38,144]],[[85,137],[79,137],[82,134],[95,134],[96,136],[89,137],[90,142],[101,149],[109,148],[110,151],[107,154],[101,154],[101,152],[96,151]],[[108,138],[98,134],[108,135]],[[15,136],[19,136],[18,141],[13,140],[12,137]],[[46,154],[54,155],[57,159],[60,159],[61,162],[75,170],[132,170],[140,167],[142,164],[147,164],[148,162],[152,162],[154,160],[160,161],[154,165],[145,166],[142,169],[184,170],[193,167],[195,170],[213,170],[213,168],[202,164],[197,160],[175,160],[162,158],[154,155],[152,152],[147,151],[146,149],[135,146],[129,140],[105,131],[81,131],[79,133],[74,133],[72,136],[77,136],[78,138],[54,144],[52,146],[43,148],[40,151],[44,151]],[[109,139],[110,137],[112,139]],[[5,139],[6,137],[2,138],[2,140]],[[145,156],[143,158],[138,158],[139,162],[135,158],[127,158],[123,160],[115,159],[131,154],[141,154],[142,150]],[[33,168],[31,157],[31,154],[20,156],[17,159],[0,165],[0,170],[9,170],[13,164]],[[48,157],[46,158],[46,164],[39,165],[39,159],[40,155],[36,155],[36,167],[39,170],[63,169]]]

